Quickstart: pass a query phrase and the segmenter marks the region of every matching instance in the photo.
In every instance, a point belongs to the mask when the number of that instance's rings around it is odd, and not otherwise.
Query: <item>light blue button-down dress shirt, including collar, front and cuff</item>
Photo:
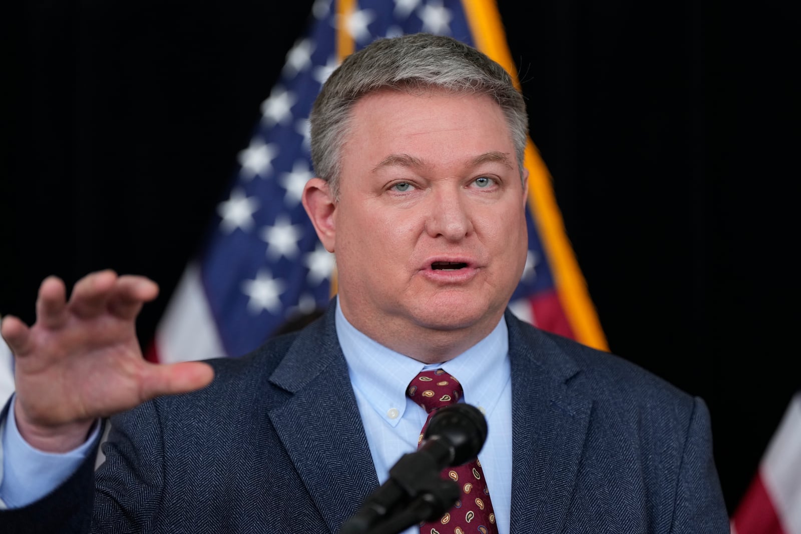
[[[406,396],[409,382],[423,370],[445,369],[462,385],[462,398],[484,413],[489,433],[478,455],[489,487],[499,534],[509,534],[512,501],[512,384],[505,319],[475,346],[445,363],[424,365],[391,351],[356,330],[337,302],[336,333],[348,363],[353,391],[380,484],[407,452],[417,450],[425,410]],[[13,403],[13,399],[12,399]],[[19,508],[62,484],[91,451],[98,430],[80,448],[65,454],[28,445],[14,421],[14,406],[2,422],[0,506]],[[417,532],[410,528],[409,534]],[[405,533],[406,534],[406,533]]]

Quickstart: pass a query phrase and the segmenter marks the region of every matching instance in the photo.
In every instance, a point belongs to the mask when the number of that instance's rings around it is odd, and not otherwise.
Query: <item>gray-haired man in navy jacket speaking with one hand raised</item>
[[[505,311],[527,126],[501,66],[450,38],[381,40],[328,78],[311,121],[303,202],[339,273],[324,317],[240,359],[159,367],[134,335],[154,283],[104,271],[66,301],[46,279],[37,323],[2,324],[17,393],[0,524],[337,532],[417,447],[426,414],[406,391],[428,371],[489,421],[481,532],[728,531],[700,399]],[[37,469],[47,484],[24,488]],[[466,532],[473,516],[450,512],[430,532]]]

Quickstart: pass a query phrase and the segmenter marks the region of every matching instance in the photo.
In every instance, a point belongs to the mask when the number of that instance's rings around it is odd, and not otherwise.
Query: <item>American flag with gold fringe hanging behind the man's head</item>
[[[313,172],[309,110],[345,55],[375,38],[421,31],[477,46],[515,74],[494,2],[317,0],[308,30],[261,104],[230,194],[217,207],[203,255],[189,263],[171,298],[149,359],[243,355],[294,315],[326,306],[336,284],[334,258],[300,203]],[[533,207],[529,250],[510,307],[546,330],[605,348],[549,176],[530,143],[526,167]]]

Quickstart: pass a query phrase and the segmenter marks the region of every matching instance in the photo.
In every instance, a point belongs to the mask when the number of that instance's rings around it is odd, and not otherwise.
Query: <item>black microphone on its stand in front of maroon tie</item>
[[[421,520],[436,519],[453,506],[459,487],[443,480],[440,472],[478,456],[487,439],[487,422],[478,408],[453,404],[434,414],[423,438],[416,452],[400,457],[389,479],[364,500],[340,534],[400,532]],[[392,520],[393,515],[401,516]],[[382,527],[382,522],[392,527]]]

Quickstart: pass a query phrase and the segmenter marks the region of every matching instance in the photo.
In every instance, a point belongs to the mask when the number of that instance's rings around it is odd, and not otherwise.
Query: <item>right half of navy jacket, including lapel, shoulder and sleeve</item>
[[[728,532],[701,399],[506,319],[513,531]]]

